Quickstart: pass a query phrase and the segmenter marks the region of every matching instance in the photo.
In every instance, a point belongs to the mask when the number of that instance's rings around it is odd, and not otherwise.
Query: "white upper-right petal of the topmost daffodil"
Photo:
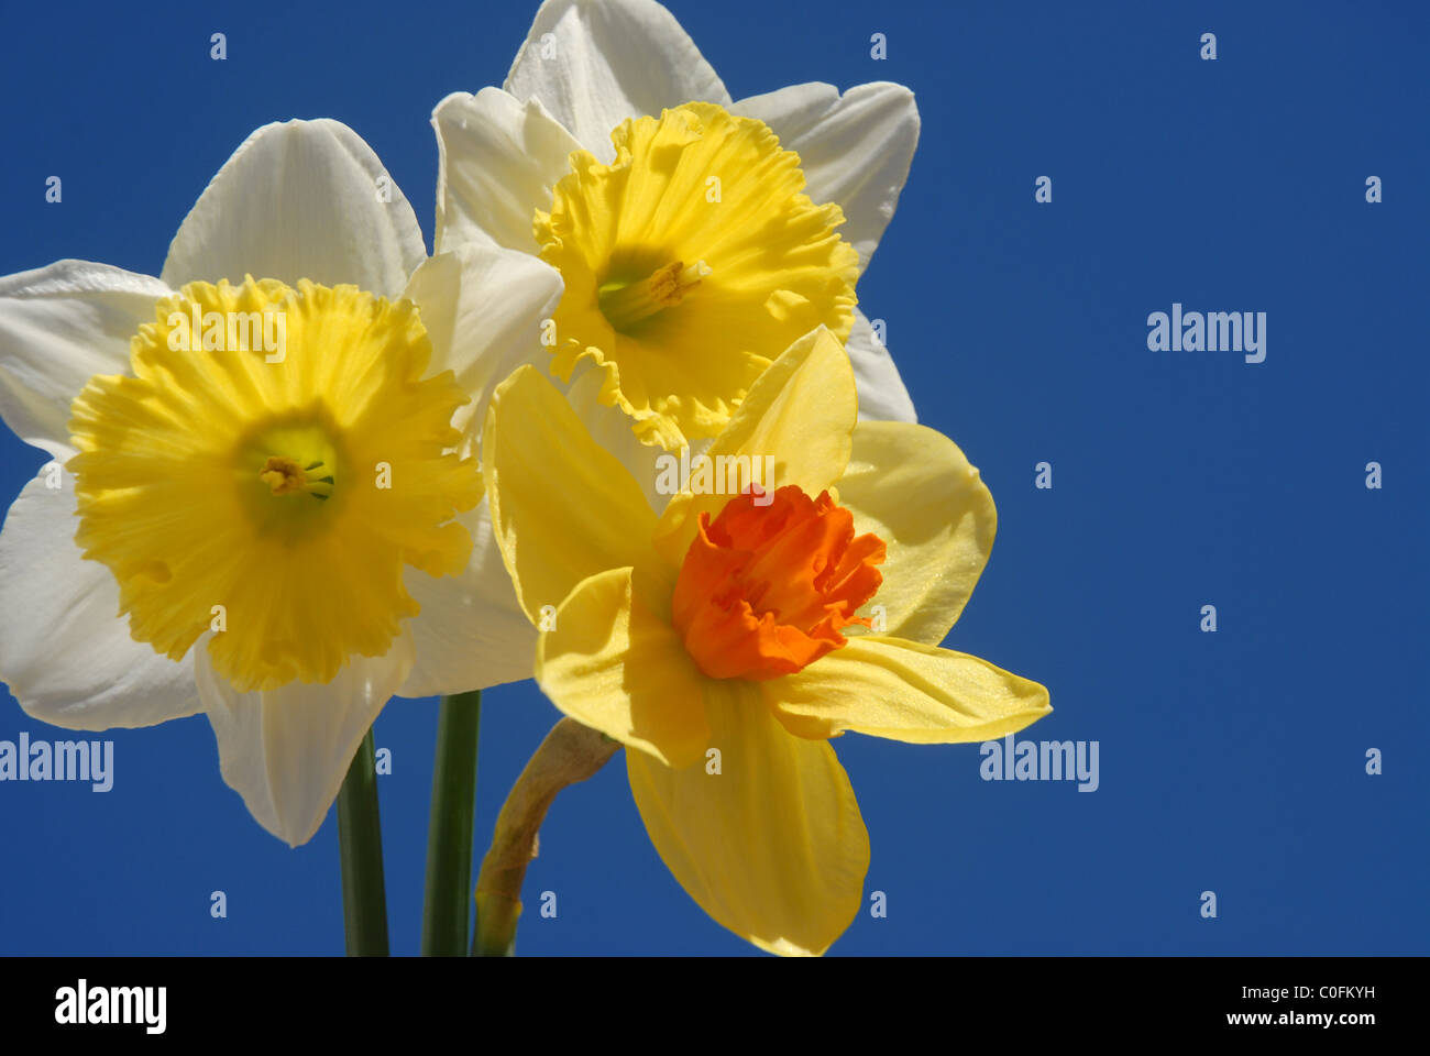
[[[894,216],[918,146],[918,106],[902,84],[874,82],[842,96],[832,84],[791,84],[735,103],[735,113],[765,122],[799,155],[807,193],[838,202],[839,232],[867,268]]]

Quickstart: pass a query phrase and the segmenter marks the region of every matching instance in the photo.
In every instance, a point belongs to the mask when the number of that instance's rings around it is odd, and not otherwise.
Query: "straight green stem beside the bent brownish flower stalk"
[[[472,913],[472,828],[476,823],[476,745],[482,693],[443,697],[428,818],[428,884],[422,906],[422,956],[466,954]]]

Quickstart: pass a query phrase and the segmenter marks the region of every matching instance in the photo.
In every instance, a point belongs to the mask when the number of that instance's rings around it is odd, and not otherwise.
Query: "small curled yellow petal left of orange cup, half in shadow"
[[[583,580],[536,647],[536,683],[585,725],[674,767],[711,743],[704,675],[671,624],[632,590],[633,569]]]

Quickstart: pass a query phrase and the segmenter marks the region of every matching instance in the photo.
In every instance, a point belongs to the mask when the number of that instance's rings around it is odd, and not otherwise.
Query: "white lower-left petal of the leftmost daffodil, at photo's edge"
[[[0,681],[26,714],[70,730],[154,725],[199,711],[193,663],[129,637],[119,584],[74,545],[74,481],[24,485],[0,531]]]

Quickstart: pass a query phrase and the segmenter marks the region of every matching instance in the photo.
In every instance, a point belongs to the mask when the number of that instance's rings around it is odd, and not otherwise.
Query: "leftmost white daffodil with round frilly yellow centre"
[[[330,120],[255,132],[157,279],[0,279],[0,415],[56,459],[0,532],[0,678],[77,730],[206,713],[253,817],[309,840],[389,697],[531,674],[473,455],[561,290],[512,250],[428,259]]]

